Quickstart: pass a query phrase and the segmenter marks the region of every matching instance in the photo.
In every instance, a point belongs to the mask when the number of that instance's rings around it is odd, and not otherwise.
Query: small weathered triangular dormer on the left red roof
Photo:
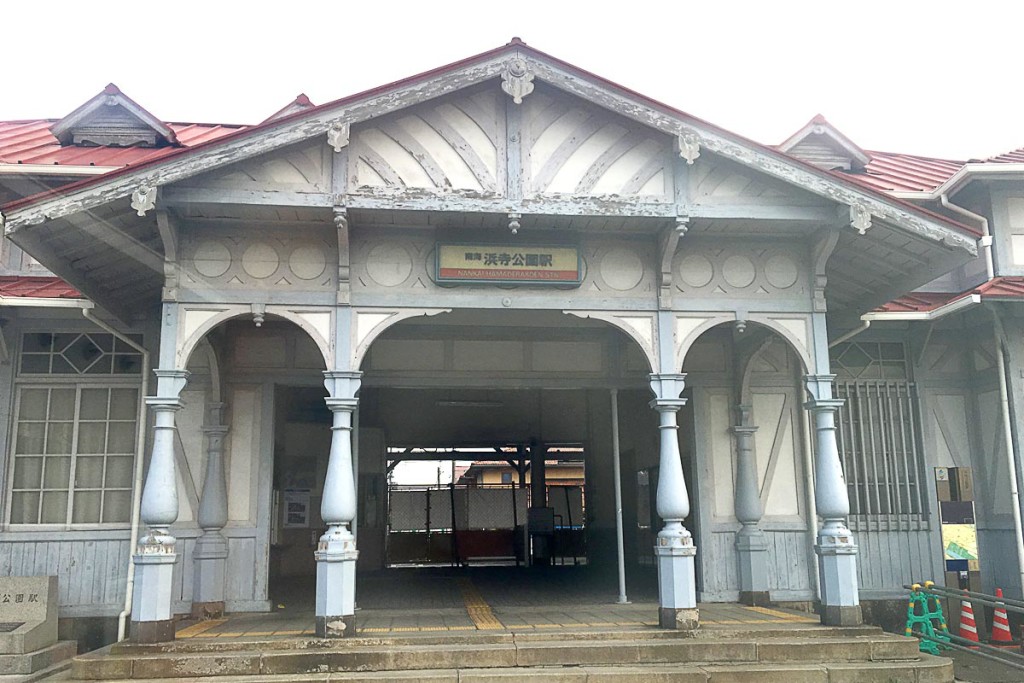
[[[113,83],[53,124],[50,132],[63,145],[155,147],[178,142],[167,124]]]

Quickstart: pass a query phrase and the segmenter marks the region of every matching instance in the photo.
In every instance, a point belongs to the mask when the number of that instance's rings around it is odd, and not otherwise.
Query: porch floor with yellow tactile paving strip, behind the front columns
[[[615,603],[614,578],[592,567],[422,567],[357,581],[358,635],[438,632],[652,629],[657,626],[653,577],[630,586],[630,604]],[[267,638],[314,633],[312,582],[274,596],[275,611],[228,614],[180,629],[178,639]],[[815,614],[732,603],[700,605],[702,628],[817,624]]]

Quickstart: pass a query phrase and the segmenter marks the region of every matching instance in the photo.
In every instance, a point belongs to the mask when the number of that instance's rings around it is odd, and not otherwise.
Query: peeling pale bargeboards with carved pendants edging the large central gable
[[[168,155],[160,161],[12,202],[4,207],[8,214],[7,230],[13,234],[24,226],[106,204],[139,187],[167,185],[317,135],[326,135],[327,141],[340,152],[348,145],[353,125],[497,79],[502,80],[503,90],[517,102],[530,96],[534,83],[543,82],[669,135],[676,140],[679,155],[688,164],[701,154],[719,155],[829,201],[849,205],[851,215],[856,213],[861,218],[861,226],[876,217],[930,241],[963,248],[972,254],[977,252],[974,239],[968,234],[974,230],[969,226],[725,131],[527,47],[517,39],[447,67],[297,112]]]

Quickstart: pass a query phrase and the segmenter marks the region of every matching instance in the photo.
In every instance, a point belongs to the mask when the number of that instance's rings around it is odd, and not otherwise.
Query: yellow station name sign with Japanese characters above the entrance
[[[438,283],[579,285],[575,247],[437,245]]]

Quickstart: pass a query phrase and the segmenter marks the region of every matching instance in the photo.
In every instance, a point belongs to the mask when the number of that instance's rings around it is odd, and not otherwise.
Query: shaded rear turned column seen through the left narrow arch
[[[227,564],[227,541],[220,530],[227,523],[227,481],[224,473],[224,404],[206,407],[206,475],[199,502],[200,528],[203,535],[193,551],[193,616],[219,618],[224,613],[224,571]]]

